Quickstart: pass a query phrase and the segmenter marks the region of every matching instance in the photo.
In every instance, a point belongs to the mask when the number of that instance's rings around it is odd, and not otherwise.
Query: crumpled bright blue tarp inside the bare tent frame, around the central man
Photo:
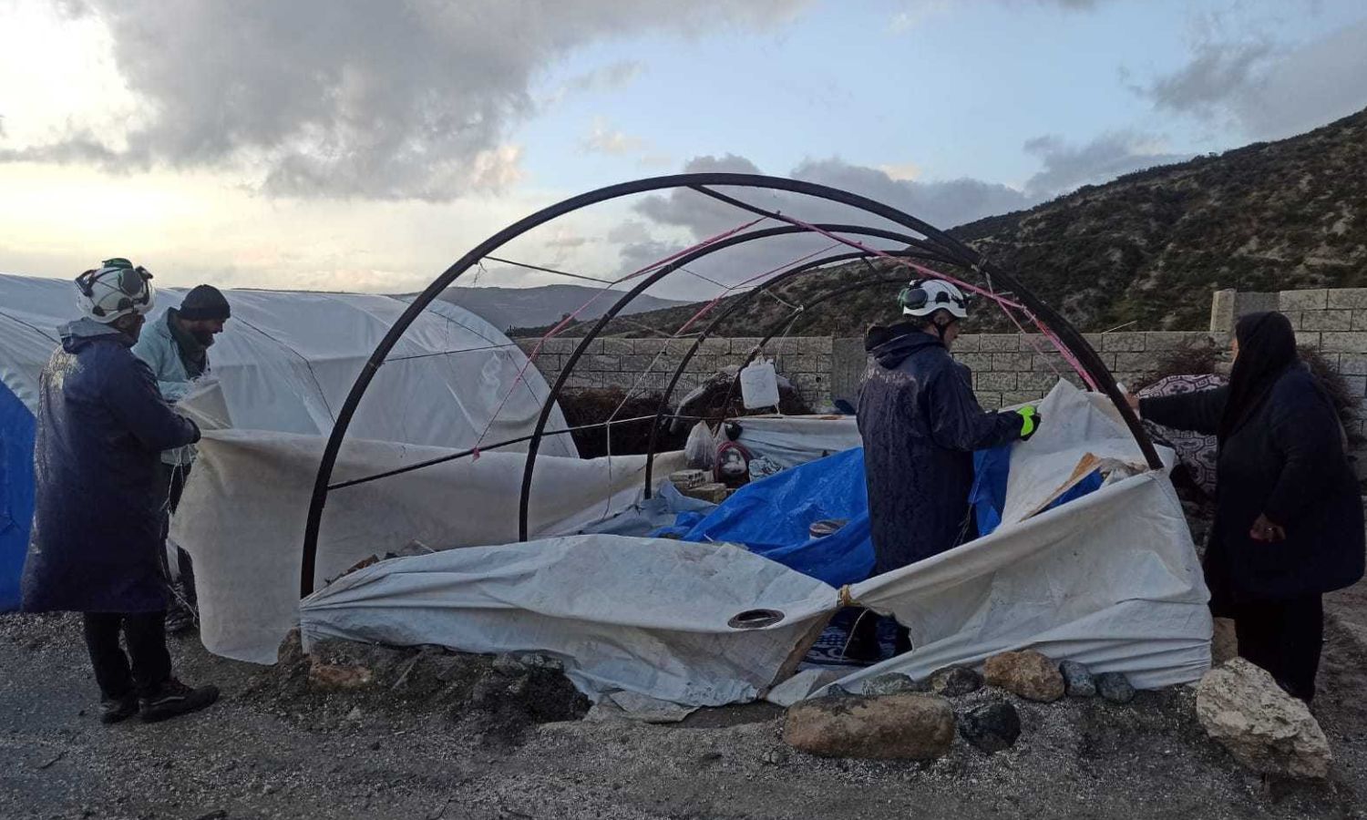
[[[1010,446],[973,454],[973,467],[969,502],[979,534],[986,536],[1002,521]],[[1100,473],[1094,473],[1050,508],[1100,485]],[[811,537],[811,525],[827,518],[843,518],[848,523],[830,536]],[[685,541],[744,544],[752,552],[831,586],[864,581],[874,570],[864,448],[846,450],[746,484],[711,512],[682,512],[674,526],[652,534],[668,534]]]

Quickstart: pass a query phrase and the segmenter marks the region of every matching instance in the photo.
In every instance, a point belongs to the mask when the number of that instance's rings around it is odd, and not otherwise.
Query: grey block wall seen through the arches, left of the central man
[[[545,342],[536,366],[547,381],[559,377],[580,342],[567,338]],[[679,377],[675,398],[688,395],[722,368],[745,362],[759,342],[757,338],[705,339]],[[530,355],[537,339],[518,339],[517,343]],[[659,392],[668,385],[678,362],[692,347],[693,339],[595,339],[565,387]],[[766,353],[813,410],[826,410],[831,406],[833,348],[830,336],[791,336],[770,342]]]

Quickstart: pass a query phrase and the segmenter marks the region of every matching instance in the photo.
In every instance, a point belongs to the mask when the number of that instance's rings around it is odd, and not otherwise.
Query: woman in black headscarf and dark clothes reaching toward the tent
[[[1286,317],[1240,318],[1233,354],[1226,387],[1140,399],[1137,410],[1163,426],[1217,435],[1204,562],[1211,611],[1234,619],[1241,657],[1310,702],[1322,596],[1363,577],[1362,497],[1344,428],[1300,361]]]

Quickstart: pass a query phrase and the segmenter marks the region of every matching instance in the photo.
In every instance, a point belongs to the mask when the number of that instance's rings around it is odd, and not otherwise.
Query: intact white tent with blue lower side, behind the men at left
[[[362,294],[228,290],[232,318],[211,353],[235,428],[325,436],[379,340],[409,308]],[[157,321],[185,291],[159,288]],[[38,374],[57,327],[78,317],[68,280],[0,275],[0,611],[18,604],[18,578],[33,517],[33,425]],[[377,390],[351,420],[358,437],[410,446],[474,447],[530,432],[547,385],[498,328],[433,302],[405,332],[376,376]],[[552,413],[551,426],[565,429]],[[567,435],[551,455],[577,456]]]

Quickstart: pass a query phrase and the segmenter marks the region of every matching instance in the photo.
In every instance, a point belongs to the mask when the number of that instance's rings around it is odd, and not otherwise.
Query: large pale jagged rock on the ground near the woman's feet
[[[1310,709],[1241,657],[1206,672],[1196,686],[1196,716],[1210,737],[1254,771],[1329,775],[1333,754]]]

